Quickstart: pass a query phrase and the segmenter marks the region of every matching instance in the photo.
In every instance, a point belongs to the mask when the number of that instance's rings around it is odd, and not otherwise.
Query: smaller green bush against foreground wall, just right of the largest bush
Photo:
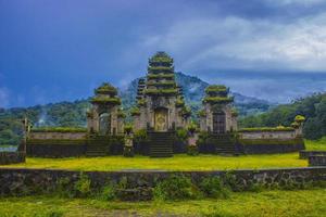
[[[227,199],[230,193],[229,188],[218,177],[204,178],[199,186],[208,197]]]

